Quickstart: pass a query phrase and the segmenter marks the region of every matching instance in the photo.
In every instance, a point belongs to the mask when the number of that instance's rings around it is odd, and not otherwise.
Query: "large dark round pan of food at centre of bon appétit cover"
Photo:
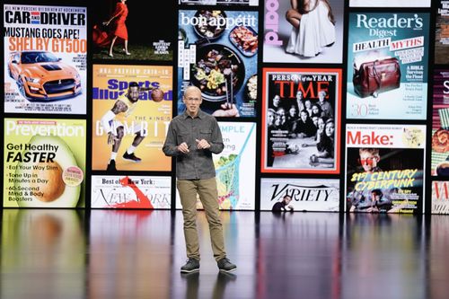
[[[232,48],[207,44],[197,48],[196,63],[191,67],[192,84],[206,101],[224,101],[242,88],[245,68],[242,58]],[[231,84],[232,82],[232,84]]]

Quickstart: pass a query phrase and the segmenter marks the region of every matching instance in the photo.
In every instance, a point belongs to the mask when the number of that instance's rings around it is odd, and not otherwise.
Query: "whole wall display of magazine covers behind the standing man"
[[[449,214],[449,0],[30,3],[3,4],[2,207],[180,209],[194,85],[220,209]]]

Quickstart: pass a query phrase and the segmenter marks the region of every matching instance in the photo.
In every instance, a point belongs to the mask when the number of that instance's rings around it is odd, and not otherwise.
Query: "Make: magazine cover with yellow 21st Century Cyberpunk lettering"
[[[347,125],[346,211],[424,211],[426,126]]]

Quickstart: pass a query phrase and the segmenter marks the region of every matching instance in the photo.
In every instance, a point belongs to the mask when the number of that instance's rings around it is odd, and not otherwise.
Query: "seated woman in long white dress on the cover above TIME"
[[[292,24],[286,52],[315,57],[335,42],[335,20],[329,0],[290,0],[286,21]]]

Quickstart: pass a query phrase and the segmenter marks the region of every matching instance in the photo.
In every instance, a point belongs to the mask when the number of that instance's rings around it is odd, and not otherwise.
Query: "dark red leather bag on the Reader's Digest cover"
[[[357,69],[354,65],[352,77],[354,91],[362,98],[377,97],[379,92],[386,92],[400,87],[401,67],[396,57],[364,62]]]

